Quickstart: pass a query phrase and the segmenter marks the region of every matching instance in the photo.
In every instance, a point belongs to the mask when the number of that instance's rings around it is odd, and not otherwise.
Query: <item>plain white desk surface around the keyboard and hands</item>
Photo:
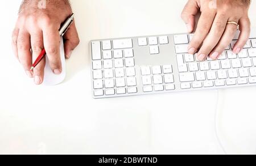
[[[73,0],[81,44],[67,61],[67,79],[54,87],[35,86],[14,58],[20,2],[1,2],[0,154],[223,154],[214,133],[217,90],[91,96],[89,41],[186,32],[185,2]],[[255,10],[253,1],[253,27]],[[256,154],[255,92],[219,91],[218,131],[228,154]]]

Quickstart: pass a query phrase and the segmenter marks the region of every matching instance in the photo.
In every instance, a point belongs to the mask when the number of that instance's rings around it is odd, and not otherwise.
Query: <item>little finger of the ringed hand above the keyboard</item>
[[[245,46],[246,42],[249,39],[250,36],[250,31],[251,31],[251,23],[249,18],[241,18],[239,20],[239,25],[240,25],[240,35],[238,38],[238,41],[234,45],[233,52],[238,54],[243,46]]]

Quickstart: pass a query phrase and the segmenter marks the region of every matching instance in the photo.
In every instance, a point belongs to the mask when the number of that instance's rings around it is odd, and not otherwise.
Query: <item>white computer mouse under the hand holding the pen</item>
[[[65,54],[64,54],[64,44],[63,38],[61,37],[60,41],[60,56],[61,56],[61,65],[62,65],[62,73],[60,75],[56,75],[52,72],[51,67],[49,67],[49,61],[46,56],[46,67],[44,68],[44,82],[45,86],[55,86],[64,81],[66,76],[66,63],[65,63]]]

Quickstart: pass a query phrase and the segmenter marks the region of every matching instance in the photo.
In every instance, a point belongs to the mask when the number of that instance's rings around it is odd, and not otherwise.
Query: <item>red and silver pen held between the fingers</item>
[[[65,21],[65,23],[61,26],[59,33],[60,36],[63,36],[67,31],[68,28],[71,26],[71,24],[73,23],[73,19],[74,19],[74,14],[72,14],[71,16],[68,17],[68,19]],[[44,58],[44,56],[46,56],[46,50],[43,49],[42,52],[39,54],[38,58],[36,58],[35,62],[33,63],[32,67],[30,70],[34,70],[34,68],[38,65],[38,63],[40,61],[42,61],[42,59]]]

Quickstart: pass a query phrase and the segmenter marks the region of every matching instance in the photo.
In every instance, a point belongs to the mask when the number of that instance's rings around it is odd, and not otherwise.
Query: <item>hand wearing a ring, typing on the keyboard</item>
[[[200,60],[208,55],[217,59],[234,38],[238,23],[241,33],[233,52],[239,53],[250,36],[249,6],[250,0],[189,0],[181,14],[189,33],[194,31],[195,15],[199,10],[201,16],[188,52],[198,51]]]

